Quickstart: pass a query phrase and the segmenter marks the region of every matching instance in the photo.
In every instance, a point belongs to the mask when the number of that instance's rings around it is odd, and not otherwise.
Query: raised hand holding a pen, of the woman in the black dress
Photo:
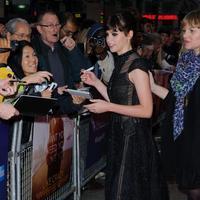
[[[99,81],[99,79],[93,72],[82,70],[81,81],[87,85],[95,86],[95,84]]]

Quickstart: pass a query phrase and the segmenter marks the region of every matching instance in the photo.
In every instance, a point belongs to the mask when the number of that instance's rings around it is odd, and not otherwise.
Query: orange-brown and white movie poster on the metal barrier
[[[70,181],[74,120],[40,117],[34,123],[32,199],[42,200]]]

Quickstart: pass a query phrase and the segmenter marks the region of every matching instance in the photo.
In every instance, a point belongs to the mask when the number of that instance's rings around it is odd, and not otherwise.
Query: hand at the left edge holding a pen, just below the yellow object
[[[17,83],[10,83],[10,79],[0,80],[0,95],[11,96],[17,91]]]

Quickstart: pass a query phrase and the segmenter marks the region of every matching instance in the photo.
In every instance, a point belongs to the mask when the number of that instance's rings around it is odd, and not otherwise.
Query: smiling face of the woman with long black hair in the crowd
[[[38,58],[34,49],[30,46],[25,46],[22,53],[22,70],[25,76],[37,72]]]

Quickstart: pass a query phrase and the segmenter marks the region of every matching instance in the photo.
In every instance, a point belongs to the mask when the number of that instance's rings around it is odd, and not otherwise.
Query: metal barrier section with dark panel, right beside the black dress
[[[77,177],[78,199],[81,188],[106,165],[105,138],[108,114],[78,116],[77,124]]]

